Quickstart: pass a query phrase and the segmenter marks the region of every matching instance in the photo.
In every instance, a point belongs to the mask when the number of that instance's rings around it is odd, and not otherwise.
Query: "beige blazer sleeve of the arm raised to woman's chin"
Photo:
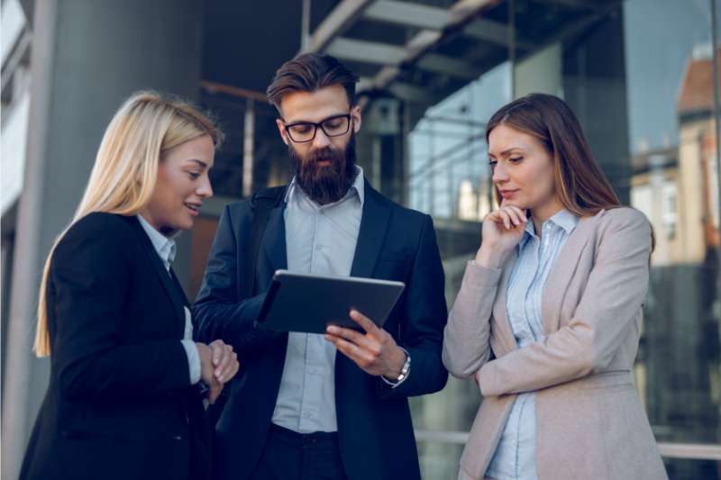
[[[443,365],[452,376],[468,378],[490,358],[490,317],[501,269],[468,262],[443,337]]]

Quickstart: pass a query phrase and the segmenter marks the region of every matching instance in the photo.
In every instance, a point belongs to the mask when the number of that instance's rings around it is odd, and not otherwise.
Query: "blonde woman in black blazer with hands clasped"
[[[115,113],[73,222],[42,277],[35,351],[50,385],[20,478],[209,476],[199,382],[213,402],[238,370],[222,341],[194,343],[172,236],[213,195],[220,132],[152,92]]]

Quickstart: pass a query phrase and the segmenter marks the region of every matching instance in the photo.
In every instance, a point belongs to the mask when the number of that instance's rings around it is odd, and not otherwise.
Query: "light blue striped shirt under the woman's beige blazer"
[[[543,222],[542,235],[528,220],[518,244],[518,259],[508,277],[507,317],[519,348],[543,338],[541,304],[559,252],[579,218],[561,210]],[[537,480],[535,471],[535,393],[518,394],[486,475],[498,480]]]

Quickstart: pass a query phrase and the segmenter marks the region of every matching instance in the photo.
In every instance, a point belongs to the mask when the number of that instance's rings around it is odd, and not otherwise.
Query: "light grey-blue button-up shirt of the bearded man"
[[[364,178],[358,173],[338,202],[319,205],[297,186],[286,194],[287,269],[350,276],[363,216]],[[317,333],[290,332],[272,421],[299,433],[337,431],[333,343]]]

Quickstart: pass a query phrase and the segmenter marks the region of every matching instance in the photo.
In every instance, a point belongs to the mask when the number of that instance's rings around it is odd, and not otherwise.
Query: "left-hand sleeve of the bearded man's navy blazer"
[[[235,231],[233,212],[226,206],[205,267],[203,285],[193,305],[193,318],[198,340],[221,339],[243,354],[278,334],[256,329],[254,325],[266,294],[238,298],[237,278],[243,266]]]

